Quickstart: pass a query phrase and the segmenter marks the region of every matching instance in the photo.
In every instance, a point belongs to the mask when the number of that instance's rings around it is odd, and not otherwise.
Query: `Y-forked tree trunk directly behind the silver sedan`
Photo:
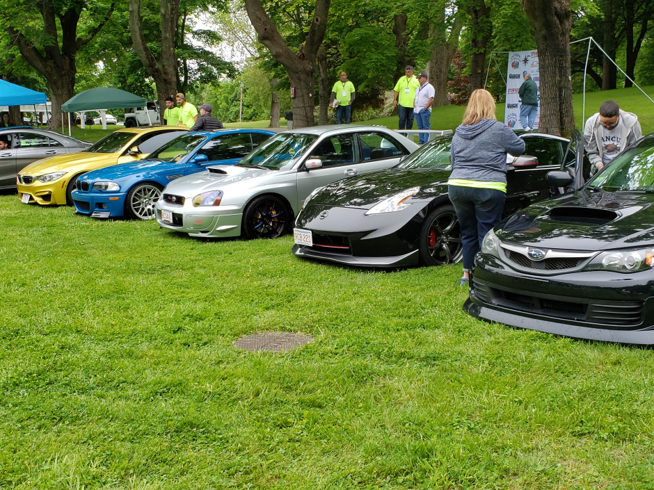
[[[245,0],[248,17],[252,22],[259,42],[269,49],[271,56],[285,67],[291,86],[294,87],[293,126],[303,128],[314,126],[315,101],[313,97],[316,81],[316,60],[327,29],[330,0],[316,0],[313,22],[305,43],[295,54],[280,35],[275,24],[266,14],[260,0]]]

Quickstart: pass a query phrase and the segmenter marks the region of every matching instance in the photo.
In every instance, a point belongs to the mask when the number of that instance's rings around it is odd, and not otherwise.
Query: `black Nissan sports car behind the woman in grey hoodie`
[[[539,133],[520,137],[525,140],[525,156],[507,158],[505,216],[564,192],[550,186],[546,176],[568,165],[574,173],[574,145],[582,146],[577,144],[578,134],[571,141]],[[315,190],[298,214],[293,253],[379,268],[460,261],[461,229],[447,197],[451,142],[451,135],[442,136],[390,170]]]

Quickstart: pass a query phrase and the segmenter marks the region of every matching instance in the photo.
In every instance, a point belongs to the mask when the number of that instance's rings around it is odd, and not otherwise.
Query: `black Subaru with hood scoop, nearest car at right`
[[[654,134],[580,190],[489,231],[465,309],[514,327],[654,345]]]

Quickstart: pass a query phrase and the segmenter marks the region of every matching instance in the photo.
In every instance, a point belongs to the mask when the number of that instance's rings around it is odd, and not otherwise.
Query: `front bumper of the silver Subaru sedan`
[[[241,236],[243,206],[215,206],[201,209],[193,206],[175,206],[163,203],[154,206],[154,215],[162,228],[207,238]],[[218,209],[220,208],[220,209]],[[169,211],[173,222],[164,222],[161,211]]]

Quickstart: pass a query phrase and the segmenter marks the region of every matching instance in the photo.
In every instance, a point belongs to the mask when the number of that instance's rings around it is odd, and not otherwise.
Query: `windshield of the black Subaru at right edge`
[[[608,192],[620,190],[654,192],[654,138],[616,156],[604,172],[591,178],[588,186]]]

